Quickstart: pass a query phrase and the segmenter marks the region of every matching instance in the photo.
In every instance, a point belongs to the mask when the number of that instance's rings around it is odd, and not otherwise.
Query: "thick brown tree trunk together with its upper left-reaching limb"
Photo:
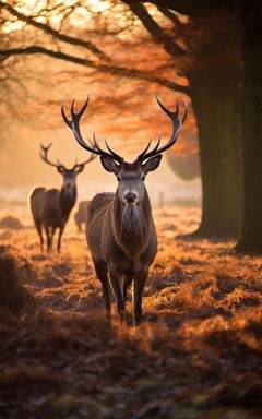
[[[170,8],[178,11],[176,8],[183,3]],[[228,13],[225,4],[217,11],[206,8],[205,1],[198,7],[193,1],[189,3],[187,24],[162,8],[163,14],[175,22],[175,36],[169,36],[142,4],[135,2],[130,8],[153,38],[175,58],[174,68],[180,64],[180,72],[189,82],[199,128],[203,184],[202,222],[194,235],[231,236],[239,234],[241,219],[239,34],[234,13]],[[186,48],[176,41],[178,35]]]

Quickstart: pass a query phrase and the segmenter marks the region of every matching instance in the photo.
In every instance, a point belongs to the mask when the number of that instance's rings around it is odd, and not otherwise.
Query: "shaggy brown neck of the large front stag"
[[[147,191],[140,205],[123,205],[118,193],[112,201],[112,230],[118,246],[130,259],[138,258],[148,244],[152,210]]]

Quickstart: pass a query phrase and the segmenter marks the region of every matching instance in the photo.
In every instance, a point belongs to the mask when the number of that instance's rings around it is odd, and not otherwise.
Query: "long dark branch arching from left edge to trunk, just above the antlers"
[[[32,46],[26,48],[12,48],[7,50],[0,50],[0,60],[4,61],[10,57],[13,56],[21,56],[21,55],[34,55],[34,53],[41,53],[48,57],[52,57],[59,60],[73,62],[79,65],[83,65],[86,68],[95,69],[97,71],[100,71],[103,73],[109,73],[112,75],[120,75],[122,77],[127,79],[136,79],[136,80],[143,80],[151,83],[156,83],[162,86],[168,87],[176,92],[181,92],[184,94],[190,94],[189,86],[183,86],[178,83],[174,83],[167,79],[157,77],[155,75],[152,75],[151,71],[142,71],[136,69],[129,69],[122,65],[112,65],[112,64],[99,64],[95,61],[92,61],[90,59],[80,58],[75,56],[71,56],[69,53],[64,53],[61,51],[53,51],[51,49],[43,48],[40,46]]]

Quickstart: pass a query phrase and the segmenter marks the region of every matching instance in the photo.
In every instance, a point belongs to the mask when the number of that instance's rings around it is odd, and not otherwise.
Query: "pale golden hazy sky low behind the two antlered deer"
[[[92,132],[93,127],[88,127]],[[87,131],[83,129],[83,131]],[[24,197],[28,191],[37,185],[59,187],[61,175],[56,168],[46,165],[39,157],[39,143],[48,144],[53,142],[49,157],[51,160],[59,158],[66,166],[71,167],[75,158],[82,161],[87,158],[68,128],[58,130],[37,131],[25,127],[13,127],[11,132],[2,132],[2,146],[0,156],[0,197],[9,196]],[[110,141],[114,144],[114,141]],[[129,140],[130,143],[131,139]],[[146,139],[147,141],[147,139]],[[118,147],[119,147],[119,142]],[[123,154],[127,160],[132,161],[138,155],[133,149],[132,155],[115,148]],[[152,199],[158,200],[159,192],[164,192],[165,200],[176,197],[195,197],[200,195],[200,181],[187,182],[179,179],[169,168],[165,158],[160,167],[147,176],[146,184]],[[94,193],[105,190],[115,190],[117,185],[112,173],[106,172],[97,158],[87,165],[84,171],[79,175],[79,197],[87,199]]]

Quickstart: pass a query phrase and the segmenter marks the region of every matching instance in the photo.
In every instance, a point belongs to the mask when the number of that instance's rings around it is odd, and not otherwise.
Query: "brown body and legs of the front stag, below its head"
[[[138,206],[123,206],[118,193],[97,194],[87,207],[86,238],[103,285],[107,316],[110,318],[109,280],[120,321],[124,315],[127,289],[133,282],[134,321],[138,324],[148,267],[157,251],[146,190]]]

